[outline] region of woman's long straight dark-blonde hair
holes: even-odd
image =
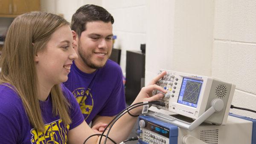
[[[69,25],[62,17],[45,12],[22,14],[15,18],[6,35],[0,57],[0,84],[14,86],[20,96],[29,121],[36,130],[44,132],[44,121],[38,100],[38,78],[35,55],[44,51],[53,32]],[[64,124],[70,124],[70,104],[59,84],[52,87],[52,113],[59,115]]]

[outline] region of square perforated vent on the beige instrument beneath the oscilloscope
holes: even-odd
[[[218,129],[201,130],[200,140],[207,144],[218,144]]]

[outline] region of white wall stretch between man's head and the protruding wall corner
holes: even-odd
[[[140,51],[146,42],[146,0],[102,0],[102,6],[114,17],[114,48],[122,50],[120,66],[125,73],[126,51]]]

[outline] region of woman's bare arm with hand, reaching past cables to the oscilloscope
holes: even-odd
[[[151,85],[143,87],[140,93],[137,95],[137,98],[134,100],[133,104],[143,102],[143,101],[157,101],[160,98],[163,98],[163,94],[152,95],[152,91],[157,89],[163,93],[166,93],[166,90],[161,86],[157,86],[157,81],[162,78],[166,72],[162,72],[156,78],[151,81]],[[130,112],[133,115],[138,115],[141,113],[143,106],[132,109]],[[134,127],[137,117],[133,117],[126,113],[113,125],[109,137],[112,138],[116,143],[124,141],[130,134],[132,128]],[[104,134],[106,134],[105,132]],[[87,125],[84,121],[79,126],[73,128],[68,132],[68,144],[83,144],[84,140],[90,135],[95,134],[93,130]],[[99,144],[100,137],[93,136],[86,141],[86,144]],[[103,144],[105,137],[102,138],[101,143]],[[107,141],[108,144],[113,144],[110,140]]]

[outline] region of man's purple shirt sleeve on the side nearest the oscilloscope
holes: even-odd
[[[98,113],[101,116],[114,116],[125,109],[125,92],[122,81],[122,70],[119,68],[119,75],[116,81],[116,88],[111,92],[105,106]]]

